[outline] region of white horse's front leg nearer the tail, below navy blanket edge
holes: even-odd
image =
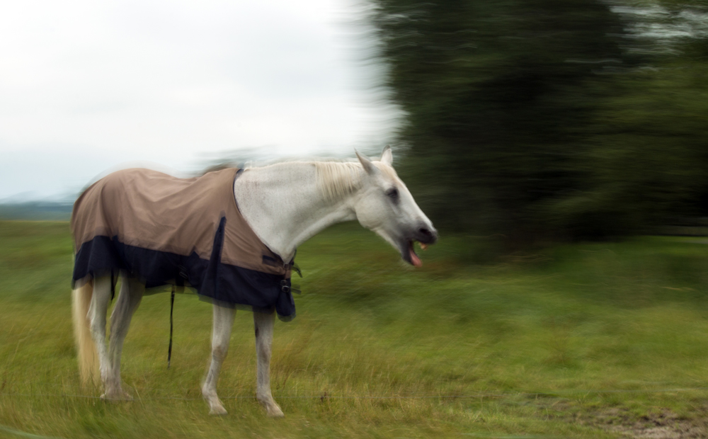
[[[207,379],[202,385],[202,396],[209,404],[210,415],[225,415],[226,409],[217,395],[217,381],[221,365],[229,352],[229,338],[234,324],[236,309],[214,305],[214,329],[212,330],[212,364],[207,372]]]

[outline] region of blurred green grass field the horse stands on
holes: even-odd
[[[297,318],[278,321],[253,398],[239,312],[219,391],[200,398],[210,305],[144,297],[123,351],[135,401],[81,389],[63,222],[0,222],[0,438],[699,438],[708,436],[708,239],[556,246],[486,265],[442,236],[412,270],[358,224],[303,245]]]

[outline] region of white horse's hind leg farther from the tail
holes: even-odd
[[[130,326],[132,314],[137,309],[145,291],[144,285],[135,278],[122,276],[118,300],[115,302],[113,314],[110,314],[110,342],[108,344],[108,358],[110,366],[108,377],[105,380],[105,394],[107,399],[132,399],[120,387],[120,353],[123,341]]]

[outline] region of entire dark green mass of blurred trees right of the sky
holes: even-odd
[[[703,71],[656,69],[675,52],[630,35],[631,16],[595,0],[372,3],[406,112],[399,173],[436,224],[519,246],[698,213]]]

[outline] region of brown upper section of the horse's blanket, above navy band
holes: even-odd
[[[236,206],[236,171],[224,169],[195,178],[176,178],[149,169],[111,173],[74,203],[75,251],[94,236],[118,236],[118,241],[130,246],[183,256],[194,251],[208,260],[219,221],[225,216],[222,263],[285,275],[290,270],[258,239]],[[263,256],[278,263],[265,264]]]

